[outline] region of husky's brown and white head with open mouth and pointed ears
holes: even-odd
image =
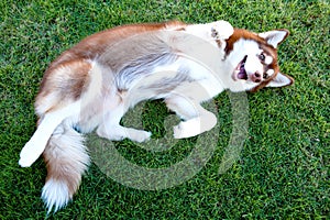
[[[282,74],[277,63],[277,46],[288,34],[287,30],[256,34],[235,29],[224,48],[232,70],[229,89],[256,91],[263,87],[292,85],[294,79]]]

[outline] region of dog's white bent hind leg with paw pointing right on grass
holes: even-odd
[[[123,139],[130,139],[135,142],[147,141],[151,136],[151,132],[125,128],[119,124],[127,110],[123,105],[120,105],[107,112],[103,122],[97,130],[97,134],[111,141],[121,141]]]

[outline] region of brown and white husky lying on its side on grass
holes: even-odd
[[[147,131],[120,125],[147,99],[163,99],[182,122],[174,138],[209,131],[217,123],[200,103],[221,91],[256,91],[294,82],[279,73],[277,46],[287,30],[252,33],[226,21],[133,24],[96,33],[64,52],[47,68],[35,100],[37,129],[20,154],[31,166],[47,164],[42,198],[48,212],[77,191],[89,156],[82,133],[147,141]]]

